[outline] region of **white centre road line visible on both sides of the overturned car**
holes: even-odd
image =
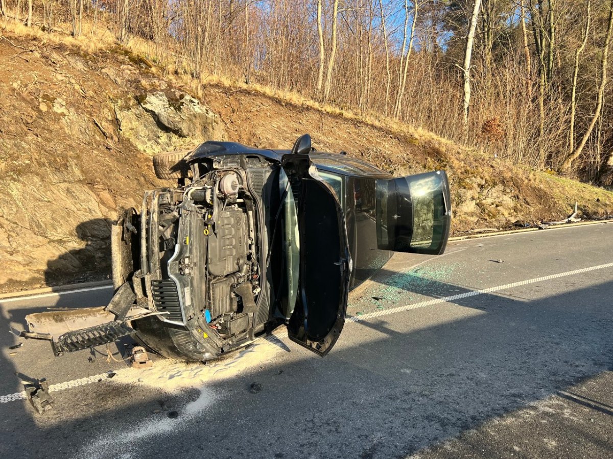
[[[521,280],[519,282],[512,282],[510,284],[498,285],[496,287],[489,287],[489,288],[484,288],[481,290],[468,291],[468,292],[460,293],[457,295],[446,296],[443,298],[435,298],[432,300],[422,301],[422,302],[414,303],[414,304],[408,304],[408,305],[400,306],[397,308],[371,312],[371,313],[367,313],[361,316],[348,316],[346,321],[348,323],[365,321],[367,319],[371,319],[375,317],[387,316],[390,314],[396,314],[399,312],[409,311],[411,309],[417,309],[417,308],[422,308],[426,306],[433,306],[435,304],[441,304],[441,303],[446,303],[446,302],[450,302],[454,300],[459,300],[462,298],[468,298],[471,296],[478,296],[478,295],[483,295],[486,293],[497,292],[500,290],[519,287],[522,285],[533,284],[536,282],[544,282],[546,280],[558,279],[561,277],[568,277],[568,276],[575,275],[575,274],[583,274],[585,272],[596,271],[598,269],[604,269],[608,267],[613,267],[613,263],[599,264],[598,266],[591,266],[591,267],[582,268],[582,269],[575,269],[574,271],[560,272],[558,274],[552,274],[552,275],[547,275],[543,277],[536,277],[536,278],[528,279],[528,280]],[[96,287],[96,288],[99,288],[99,287]],[[122,370],[119,370],[119,371],[122,371]],[[102,373],[101,375],[88,376],[88,378],[75,379],[74,381],[66,381],[66,383],[53,384],[49,386],[49,392],[56,391],[56,390],[70,389],[72,387],[85,386],[85,384],[96,383],[97,381],[100,381],[100,379],[104,381],[107,378],[107,376],[108,376],[107,373]],[[8,403],[9,401],[22,400],[24,398],[26,398],[25,392],[15,392],[15,394],[0,395],[0,403]]]

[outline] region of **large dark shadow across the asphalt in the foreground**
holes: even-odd
[[[413,288],[448,296],[459,287]],[[159,397],[137,385],[56,392],[47,420],[11,402],[0,405],[0,455],[74,457],[94,436],[100,457],[121,457],[128,446],[142,452],[133,457],[201,457],[211,448],[220,458],[405,457],[611,368],[612,293],[613,282],[531,301],[481,294],[454,301],[471,314],[428,308],[438,311],[434,325],[412,324],[411,312],[348,324],[354,331],[325,359],[292,346],[298,359],[207,386],[215,403],[191,420],[179,408],[172,435],[128,436],[154,419]],[[13,377],[10,362],[0,365]],[[261,392],[249,392],[253,381]],[[62,441],[48,441],[56,436]],[[606,439],[593,442],[613,453]]]

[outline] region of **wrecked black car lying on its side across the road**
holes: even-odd
[[[55,354],[132,335],[165,357],[203,361],[285,325],[326,355],[349,290],[393,251],[440,254],[451,201],[444,171],[394,178],[345,154],[208,141],[154,157],[175,187],[145,193],[112,233],[106,307],[29,315]]]

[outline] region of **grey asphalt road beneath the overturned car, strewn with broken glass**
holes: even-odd
[[[212,365],[139,371],[105,348],[9,349],[21,340],[4,333],[0,396],[28,379],[56,390],[44,415],[0,403],[0,457],[613,457],[611,255],[613,224],[396,254],[351,294],[323,359],[281,331]],[[109,296],[0,300],[0,328]]]

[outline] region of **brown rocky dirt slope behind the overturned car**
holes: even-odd
[[[444,168],[455,234],[517,220],[613,213],[613,193],[416,133],[382,129],[260,92],[210,85],[200,100],[145,59],[0,39],[0,290],[105,278],[109,225],[162,184],[150,157],[208,138],[364,157],[396,175]]]

